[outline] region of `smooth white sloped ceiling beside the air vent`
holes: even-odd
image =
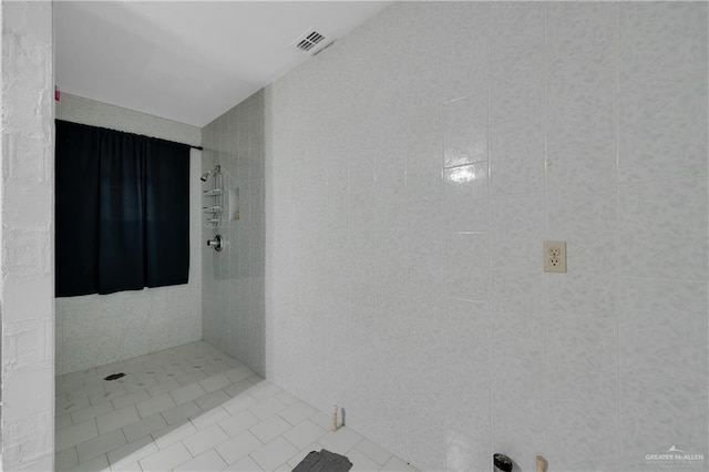
[[[337,39],[389,2],[58,1],[62,92],[204,126],[310,54],[309,28]]]

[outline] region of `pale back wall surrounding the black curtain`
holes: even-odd
[[[93,100],[62,94],[56,117],[201,144],[199,129]],[[202,339],[202,153],[193,150],[189,175],[189,283],[56,298],[56,373],[73,372]]]

